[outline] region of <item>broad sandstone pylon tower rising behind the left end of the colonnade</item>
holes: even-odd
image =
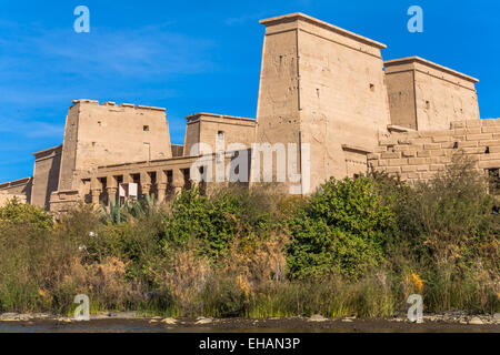
[[[73,101],[64,131],[59,190],[79,189],[100,165],[172,156],[164,109]]]

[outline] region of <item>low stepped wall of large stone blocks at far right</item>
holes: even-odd
[[[373,171],[410,183],[431,179],[463,153],[479,171],[500,168],[500,119],[458,121],[449,130],[392,133],[368,155]]]

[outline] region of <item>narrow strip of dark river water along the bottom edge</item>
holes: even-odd
[[[0,333],[500,333],[500,325],[462,325],[450,323],[394,323],[358,320],[352,323],[311,324],[297,320],[223,320],[199,326],[149,323],[144,320],[109,320],[62,323],[56,321],[0,322]]]

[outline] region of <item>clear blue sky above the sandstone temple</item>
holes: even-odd
[[[90,33],[73,10],[90,9]],[[407,30],[410,6],[423,33]],[[71,100],[167,108],[172,143],[184,116],[256,114],[263,27],[304,12],[481,82],[482,118],[500,116],[500,2],[496,0],[0,0],[0,182],[32,174],[32,153],[60,144]]]

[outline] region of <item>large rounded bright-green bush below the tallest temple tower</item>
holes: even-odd
[[[357,278],[383,260],[396,219],[373,180],[331,179],[288,221],[292,277],[340,273]]]

